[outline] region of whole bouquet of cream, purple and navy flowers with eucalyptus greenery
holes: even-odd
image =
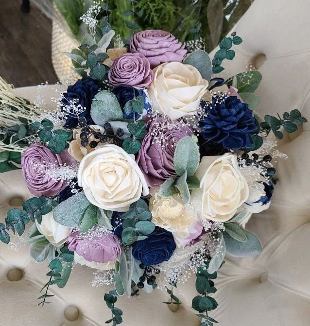
[[[89,32],[67,53],[81,79],[57,110],[26,102],[22,110],[20,99],[16,108],[2,94],[1,116],[11,119],[1,125],[0,170],[21,166],[34,197],[8,211],[0,240],[9,243],[10,231],[21,236],[32,223],[30,255],[49,266],[42,306],[49,287],[64,287],[82,264],[100,271],[97,283],[113,284],[104,295],[106,323],[118,325],[118,296],[166,288],[167,304],[179,305],[173,289],[194,273],[192,308],[201,326],[212,326],[213,279],[225,254],[262,249],[245,224],[268,209],[276,184],[277,152],[267,136],[280,139],[307,120],[296,109],[260,119],[256,70],[218,77],[242,42],[235,33],[212,60],[200,42],[136,31],[132,22],[125,45],[107,16],[97,19],[101,8],[108,12],[94,4],[82,17]]]

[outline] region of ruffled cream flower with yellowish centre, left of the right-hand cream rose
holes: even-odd
[[[192,233],[197,233],[196,223],[199,218],[195,207],[191,204],[184,205],[182,198],[175,194],[171,197],[162,197],[157,189],[150,190],[150,212],[152,213],[152,222],[167,231],[172,232],[176,244],[180,247]],[[202,227],[197,236],[201,234]],[[197,237],[196,236],[196,237]]]

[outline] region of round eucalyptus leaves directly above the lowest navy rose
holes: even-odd
[[[122,214],[120,219],[124,220],[121,239],[127,245],[146,239],[155,230],[155,224],[150,221],[152,214],[143,199],[131,204],[128,212]]]

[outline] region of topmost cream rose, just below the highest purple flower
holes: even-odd
[[[194,115],[208,86],[200,72],[180,62],[164,63],[153,71],[148,89],[153,110],[172,120]]]

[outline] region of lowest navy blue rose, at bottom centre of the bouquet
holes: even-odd
[[[156,227],[147,239],[135,243],[132,255],[143,265],[151,266],[168,261],[175,248],[172,233]]]

